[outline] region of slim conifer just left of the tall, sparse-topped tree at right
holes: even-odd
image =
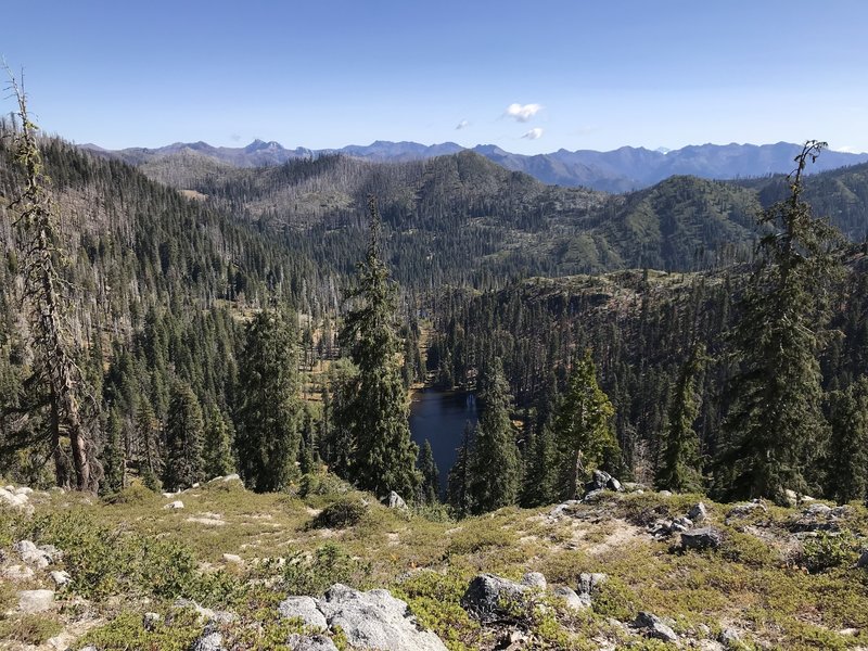
[[[704,353],[704,346],[693,347],[690,357],[681,365],[669,398],[669,417],[654,476],[654,485],[659,490],[702,490],[700,442],[693,423],[699,416],[700,396],[697,384],[705,363]]]

